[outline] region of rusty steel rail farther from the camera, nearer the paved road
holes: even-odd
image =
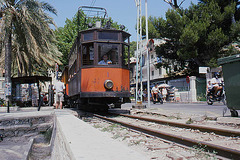
[[[180,128],[198,129],[202,132],[210,132],[210,133],[214,132],[215,134],[223,135],[223,136],[235,136],[235,137],[238,136],[238,137],[240,137],[239,131],[232,131],[232,130],[228,130],[228,129],[220,129],[220,128],[215,128],[215,127],[207,127],[207,126],[200,126],[200,125],[194,125],[194,124],[184,124],[184,123],[179,123],[179,122],[172,122],[172,121],[159,120],[159,119],[153,119],[153,118],[126,115],[126,114],[117,114],[117,115],[134,118],[134,119],[139,119],[139,120],[144,120],[144,121],[148,121],[148,122],[154,122],[154,123],[158,123],[158,124],[165,124],[165,125],[169,125],[169,126],[180,127]]]

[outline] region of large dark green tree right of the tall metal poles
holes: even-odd
[[[218,58],[230,54],[239,36],[237,5],[236,1],[205,0],[185,10],[168,10],[166,19],[150,17],[153,32],[158,33],[153,35],[166,41],[156,48],[166,62],[159,66],[189,74],[197,74],[199,66],[216,66]]]

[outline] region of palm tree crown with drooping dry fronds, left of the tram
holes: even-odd
[[[56,14],[56,10],[45,2],[0,0],[0,54],[2,62],[5,58],[7,83],[11,82],[13,62],[20,75],[31,75],[33,69],[43,65],[61,64],[61,53],[54,45],[55,37],[50,28],[54,22],[45,11]]]

